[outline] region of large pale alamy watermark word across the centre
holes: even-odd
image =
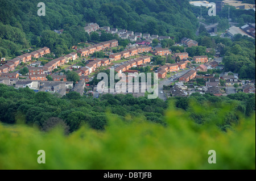
[[[152,77],[153,75],[153,77]],[[114,69],[110,69],[110,76],[106,73],[99,73],[97,79],[101,80],[97,85],[98,92],[105,93],[148,93],[148,99],[158,97],[158,74],[157,73],[124,73],[114,74]],[[140,81],[141,79],[141,81]],[[115,83],[115,80],[120,80]],[[153,82],[153,85],[152,85]]]

